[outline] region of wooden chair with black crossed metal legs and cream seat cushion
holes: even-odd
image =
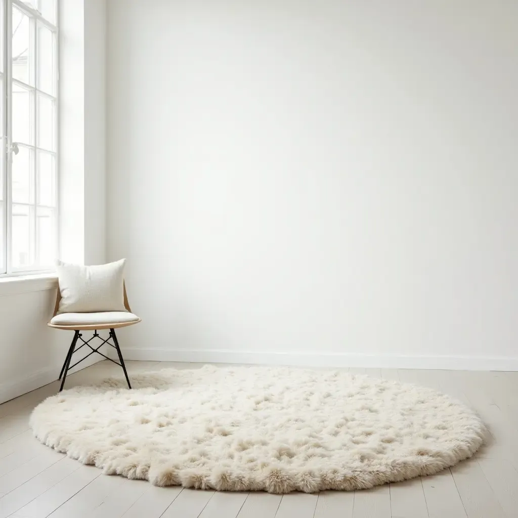
[[[60,392],[63,390],[63,385],[65,384],[65,379],[67,372],[75,367],[77,364],[81,363],[83,359],[88,358],[93,353],[100,354],[104,356],[106,359],[109,359],[110,362],[113,362],[120,367],[124,371],[124,376],[126,377],[126,381],[128,387],[131,389],[130,378],[128,378],[128,373],[126,371],[126,366],[124,365],[124,359],[122,357],[121,348],[119,347],[119,341],[117,340],[117,335],[115,334],[115,329],[119,327],[126,327],[128,325],[138,324],[140,322],[140,318],[137,315],[131,312],[130,304],[128,303],[128,298],[126,295],[126,285],[123,285],[124,290],[124,307],[126,311],[104,311],[98,313],[58,313],[58,309],[60,306],[61,300],[61,292],[59,286],[57,288],[57,297],[56,297],[56,305],[54,308],[54,314],[50,319],[50,322],[47,324],[49,327],[53,327],[54,329],[64,329],[75,331],[74,338],[72,339],[72,343],[70,344],[70,348],[68,349],[68,353],[65,358],[65,363],[61,368],[61,373],[59,379],[63,378],[61,381]],[[106,340],[103,340],[97,330],[101,329],[109,329],[110,334]],[[93,330],[94,334],[92,338],[89,340],[84,340],[81,335],[81,331],[91,331]],[[103,343],[100,344],[97,349],[94,349],[90,345],[90,341],[95,337],[98,337],[100,340],[103,340]],[[109,339],[113,339],[113,343],[109,342]],[[83,343],[76,349],[76,344],[78,340],[81,340]],[[108,358],[105,354],[99,352],[99,349],[107,343],[109,346],[113,347],[117,350],[117,354],[119,356],[120,363]],[[92,351],[88,353],[84,358],[80,359],[79,362],[76,362],[74,365],[70,366],[70,361],[72,359],[72,355],[79,351],[84,346],[88,346]]]

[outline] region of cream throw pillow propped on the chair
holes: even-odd
[[[124,264],[96,266],[56,262],[60,285],[60,313],[127,311],[124,307]]]

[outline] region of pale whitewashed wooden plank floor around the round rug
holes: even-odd
[[[127,362],[131,373],[200,364]],[[101,362],[70,375],[66,386],[120,369]],[[356,492],[218,493],[104,476],[40,444],[28,428],[57,382],[0,405],[0,518],[499,518],[518,517],[518,372],[349,369],[415,382],[463,400],[491,435],[476,457],[431,476]]]

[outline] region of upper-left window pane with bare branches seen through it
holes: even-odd
[[[34,85],[33,38],[31,20],[16,7],[12,7],[12,77]]]

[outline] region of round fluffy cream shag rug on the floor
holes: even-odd
[[[470,457],[484,425],[423,387],[297,368],[164,369],[51,396],[36,437],[108,474],[216,490],[353,490]]]

